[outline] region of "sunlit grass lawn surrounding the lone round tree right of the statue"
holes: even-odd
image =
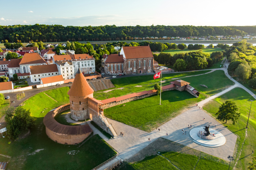
[[[252,150],[255,149],[255,141],[256,141],[256,103],[252,103],[250,119],[248,123],[247,136],[245,137],[245,127],[248,119],[248,114],[250,110],[251,102],[250,100],[255,100],[250,94],[248,94],[245,90],[241,88],[234,88],[227,92],[226,94],[215,98],[213,101],[204,105],[204,109],[211,113],[213,117],[215,117],[215,113],[218,111],[218,107],[224,103],[226,100],[234,101],[238,107],[241,116],[238,119],[236,125],[232,125],[231,121],[227,123],[224,122],[224,125],[227,128],[238,136],[237,138],[237,152],[233,155],[235,160],[232,162],[232,165],[237,161],[239,153],[241,151],[240,158],[238,160],[238,164],[236,169],[244,170],[248,166],[248,162],[252,161]],[[223,123],[223,122],[222,122]],[[244,141],[245,140],[245,141]],[[244,141],[244,145],[242,143]]]

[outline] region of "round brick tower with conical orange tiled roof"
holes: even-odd
[[[94,90],[85,80],[81,70],[78,69],[68,91],[72,119],[85,120],[90,118],[87,98],[93,98],[93,92]]]

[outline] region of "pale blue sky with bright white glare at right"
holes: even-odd
[[[3,26],[256,25],[256,0],[12,0],[13,5],[5,6],[6,2],[1,3]]]

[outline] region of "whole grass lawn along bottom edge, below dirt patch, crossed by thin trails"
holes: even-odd
[[[118,170],[155,170],[171,169],[180,170],[227,170],[227,162],[214,162],[204,157],[182,154],[178,152],[163,152],[159,155],[152,155],[134,164],[125,163]],[[170,162],[169,162],[170,161]],[[176,167],[174,167],[176,166]]]

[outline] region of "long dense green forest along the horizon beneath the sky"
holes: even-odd
[[[127,40],[131,37],[189,37],[214,35],[245,35],[256,33],[256,27],[211,27],[211,26],[61,26],[61,25],[13,25],[0,26],[0,41],[42,42]]]

